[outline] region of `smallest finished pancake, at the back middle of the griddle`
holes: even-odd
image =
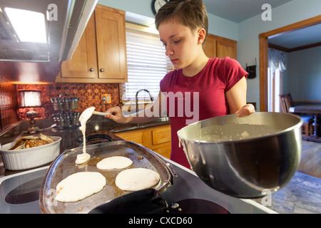
[[[100,162],[97,163],[97,167],[99,170],[113,170],[113,169],[124,169],[133,162],[127,157],[122,156],[113,156],[113,157],[106,157]]]

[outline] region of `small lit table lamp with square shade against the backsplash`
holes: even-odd
[[[38,133],[40,129],[34,126],[38,113],[34,110],[36,107],[41,107],[41,91],[36,90],[20,90],[19,91],[19,107],[20,108],[30,108],[26,112],[26,117],[29,118],[30,126],[26,133],[34,134]]]

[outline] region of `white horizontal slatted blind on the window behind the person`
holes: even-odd
[[[126,28],[126,49],[128,83],[121,83],[121,101],[136,100],[136,92],[140,89],[149,90],[156,99],[160,81],[173,69],[159,36]],[[150,100],[146,92],[139,93],[138,99]]]

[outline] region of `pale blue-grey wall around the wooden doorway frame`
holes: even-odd
[[[320,0],[293,0],[272,9],[272,21],[263,21],[261,14],[238,24],[238,61],[253,65],[257,59],[257,77],[248,79],[248,102],[256,102],[260,110],[260,80],[259,80],[259,34],[276,28],[294,24],[321,14]]]

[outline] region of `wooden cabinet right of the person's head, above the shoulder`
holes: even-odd
[[[203,44],[203,50],[209,58],[224,58],[229,56],[230,58],[236,59],[236,46],[237,41],[208,34]]]

